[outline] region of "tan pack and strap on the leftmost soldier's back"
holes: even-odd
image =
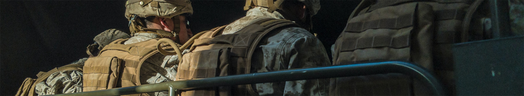
[[[53,68],[52,70],[49,70],[47,72],[40,71],[37,75],[37,79],[32,78],[26,78],[20,88],[18,88],[18,92],[16,92],[16,96],[32,96],[32,95],[38,95],[35,92],[35,86],[37,83],[40,83],[42,81],[46,81],[47,78],[56,72],[59,71],[65,71],[65,70],[78,70],[82,71],[82,66],[80,64],[69,64],[58,68]]]

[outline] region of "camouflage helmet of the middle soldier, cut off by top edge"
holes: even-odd
[[[250,8],[254,8],[255,6],[259,7],[266,7],[269,8],[267,11],[272,13],[273,11],[277,10],[278,7],[286,0],[246,0],[246,6],[244,6],[244,10],[248,10]],[[309,8],[309,13],[311,16],[315,15],[317,11],[320,9],[320,0],[288,0],[288,1],[299,1],[305,4],[306,7]]]

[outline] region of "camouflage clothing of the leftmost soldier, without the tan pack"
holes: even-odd
[[[102,50],[105,45],[112,41],[125,38],[129,38],[129,35],[116,29],[108,29],[96,35],[93,41],[95,41],[95,44],[99,45],[97,49]],[[87,59],[88,58],[81,58],[71,64],[84,65],[84,62]],[[35,92],[38,95],[82,92],[82,77],[82,71],[58,71],[51,74],[47,80],[37,83],[35,85]]]

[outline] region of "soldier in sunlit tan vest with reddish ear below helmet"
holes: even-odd
[[[189,0],[127,1],[125,16],[129,20],[132,37],[106,45],[98,57],[86,61],[83,90],[174,81],[178,56],[159,53],[157,42],[162,38],[175,41],[170,44],[172,47],[162,43],[158,46],[159,49],[169,50],[177,50],[177,43],[187,42],[192,33],[186,18],[192,13]],[[106,62],[107,59],[111,62]],[[167,92],[143,95],[167,95]]]

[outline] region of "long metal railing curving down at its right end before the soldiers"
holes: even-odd
[[[435,77],[433,77],[428,71],[424,70],[423,68],[417,65],[407,62],[377,62],[280,70],[270,71],[266,73],[232,75],[197,80],[170,81],[134,87],[55,95],[125,95],[168,90],[170,95],[174,95],[174,91],[176,91],[177,89],[209,88],[219,86],[246,85],[251,83],[365,76],[387,73],[400,73],[409,75],[413,78],[419,79],[425,85],[431,87],[431,91],[433,91],[435,95],[441,96],[445,94],[440,82],[438,82],[435,79]]]

